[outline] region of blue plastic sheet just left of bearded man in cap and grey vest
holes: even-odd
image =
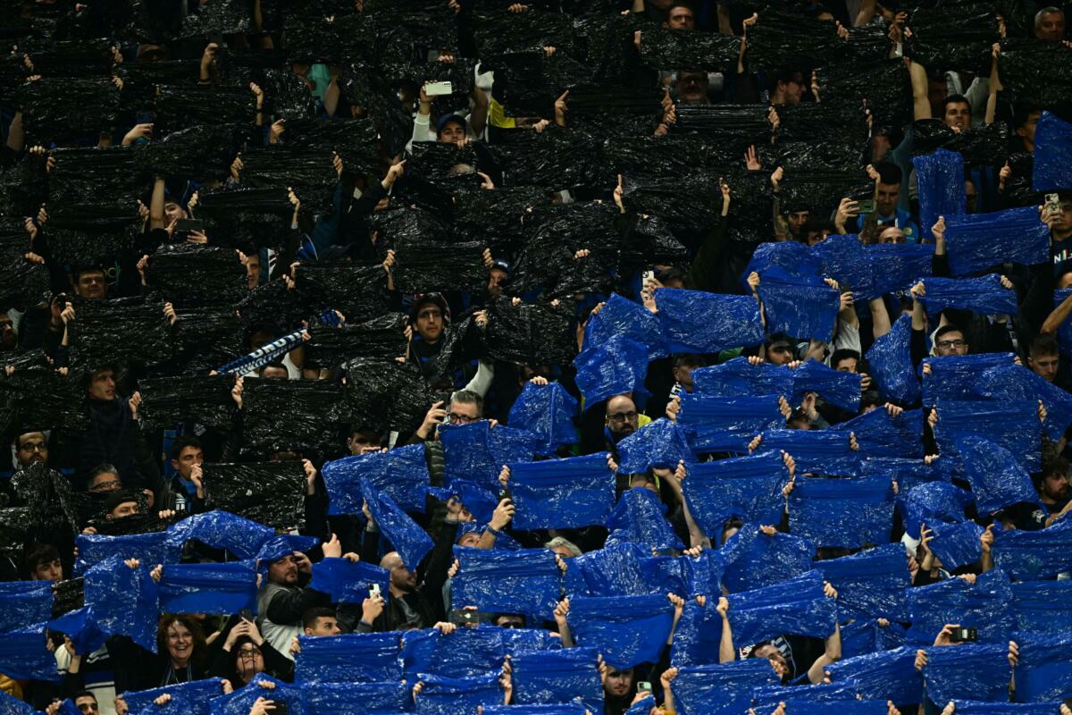
[[[168,564],[160,578],[160,610],[167,613],[228,615],[257,610],[253,562]]]

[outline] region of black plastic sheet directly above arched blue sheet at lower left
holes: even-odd
[[[273,528],[306,522],[306,472],[301,462],[205,464],[205,506]]]

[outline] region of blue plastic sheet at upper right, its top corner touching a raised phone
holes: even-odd
[[[1038,154],[1037,154],[1038,155]],[[953,275],[967,275],[1003,263],[1032,265],[1049,260],[1049,227],[1034,206],[994,213],[946,217],[946,250]],[[929,309],[930,281],[926,281]],[[936,309],[940,310],[940,309]],[[1008,313],[1006,310],[977,313]]]

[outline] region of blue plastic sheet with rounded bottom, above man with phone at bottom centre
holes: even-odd
[[[665,594],[578,597],[569,601],[569,628],[578,645],[624,669],[658,662],[670,638],[673,605]]]

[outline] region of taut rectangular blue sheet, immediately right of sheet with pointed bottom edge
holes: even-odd
[[[882,475],[799,479],[789,495],[789,531],[819,547],[885,543],[893,530],[893,491]]]

